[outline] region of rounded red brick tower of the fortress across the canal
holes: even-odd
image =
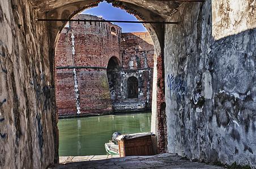
[[[99,20],[98,17],[91,15],[77,15],[74,19],[78,17]],[[116,29],[116,35],[111,34],[112,27]],[[77,111],[73,69],[59,69],[63,66],[76,66],[78,100],[82,113],[112,110],[106,69],[86,69],[78,66],[106,68],[110,57],[116,56],[120,59],[120,37],[121,28],[110,23],[72,22],[69,27],[62,30],[56,50],[59,115],[76,114]],[[72,55],[72,40],[74,40],[75,55]]]

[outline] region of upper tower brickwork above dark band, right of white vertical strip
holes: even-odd
[[[100,20],[91,15],[76,15],[74,19]],[[117,35],[111,34],[114,27]],[[116,56],[121,60],[119,42],[121,28],[110,23],[71,22],[70,28],[75,35],[75,65],[76,66],[108,66],[110,57]],[[71,36],[71,34],[70,34]],[[70,39],[71,42],[71,39]]]

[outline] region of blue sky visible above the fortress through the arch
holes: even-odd
[[[90,14],[95,16],[102,16],[105,20],[129,20],[138,21],[134,15],[128,14],[121,8],[113,7],[112,3],[106,1],[100,2],[99,6],[84,10],[82,14]],[[143,24],[130,24],[130,23],[113,23],[122,28],[122,32],[147,32]]]

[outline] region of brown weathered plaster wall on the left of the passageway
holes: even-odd
[[[44,17],[30,1],[0,1],[0,168],[54,162],[54,69]]]

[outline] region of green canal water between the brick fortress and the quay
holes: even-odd
[[[59,156],[103,155],[114,132],[150,132],[151,113],[59,119]]]

